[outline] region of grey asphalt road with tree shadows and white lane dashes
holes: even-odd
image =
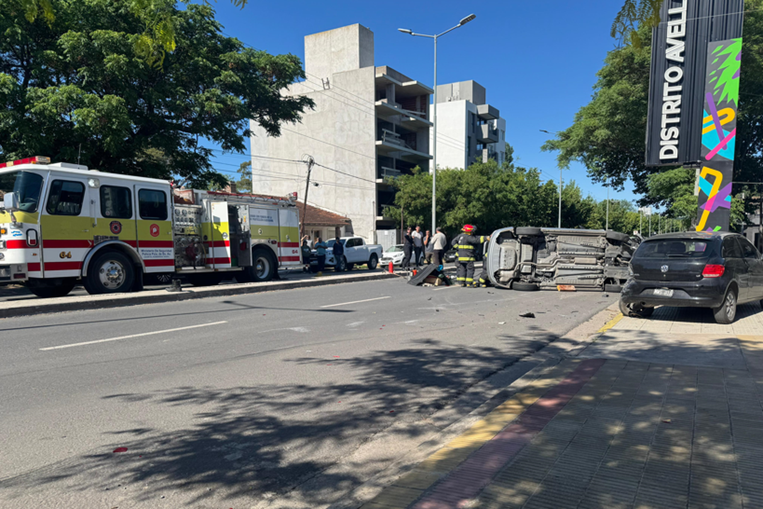
[[[7,318],[0,507],[319,507],[615,298],[391,279]]]

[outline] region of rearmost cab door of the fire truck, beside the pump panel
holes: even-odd
[[[175,250],[169,187],[137,184],[134,189],[137,249],[146,272],[172,272],[175,270]]]

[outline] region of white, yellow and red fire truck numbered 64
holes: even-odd
[[[300,266],[296,193],[285,198],[175,188],[171,182],[31,157],[0,164],[0,285],[60,297],[134,292],[143,280],[268,281]]]

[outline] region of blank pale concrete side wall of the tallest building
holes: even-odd
[[[301,124],[285,125],[281,137],[266,136],[252,122],[253,192],[285,195],[297,191],[303,197],[306,165],[256,156],[301,159],[309,154],[316,163],[352,176],[314,166],[311,180],[320,185],[311,185],[307,201],[350,217],[357,235],[374,240],[375,114],[370,106],[374,74],[372,66],[334,73],[328,90],[314,91],[315,85],[310,83],[291,85],[288,93],[304,93],[316,106],[304,114]]]

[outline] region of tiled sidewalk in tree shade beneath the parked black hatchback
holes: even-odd
[[[758,311],[713,331],[739,362],[568,359],[362,508],[763,507],[763,336],[742,333],[763,333]],[[684,316],[655,311],[608,334],[672,339],[714,325]],[[677,324],[699,330],[669,333]]]

